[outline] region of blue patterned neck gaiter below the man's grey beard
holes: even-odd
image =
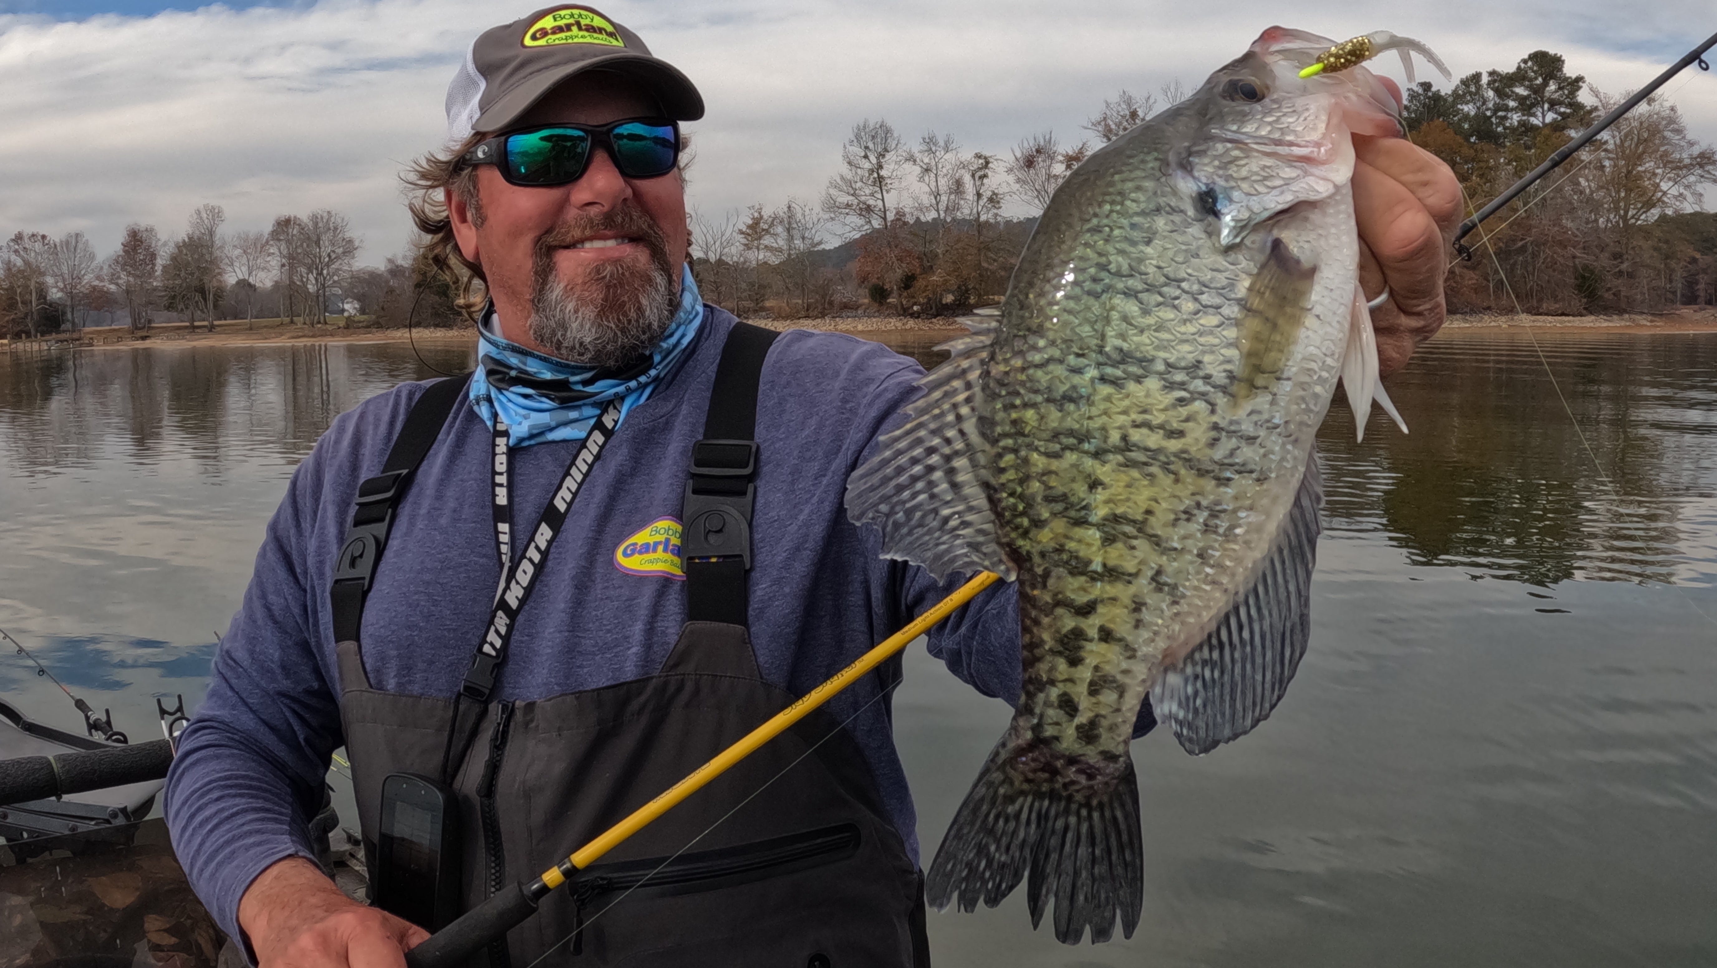
[[[680,280],[680,311],[668,323],[668,332],[647,361],[639,359],[637,366],[616,373],[543,356],[501,339],[491,308],[477,327],[482,378],[470,382],[470,406],[489,426],[500,413],[513,447],[584,440],[610,401],[622,401],[620,420],[625,421],[658,383],[673,377],[702,322],[704,301],[687,267]]]

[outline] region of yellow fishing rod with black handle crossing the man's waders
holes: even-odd
[[[876,669],[886,659],[907,648],[912,640],[931,631],[932,626],[951,616],[955,609],[970,602],[979,591],[989,588],[1001,576],[992,571],[977,573],[977,576],[908,622],[903,629],[883,640],[883,643],[871,652],[860,655],[852,665],[841,669],[829,681],[800,696],[793,701],[793,705],[774,714],[767,722],[747,732],[738,743],[716,753],[714,758],[692,770],[685,779],[663,791],[656,800],[639,806],[630,817],[615,824],[608,830],[603,830],[601,836],[573,851],[567,860],[544,870],[536,880],[531,880],[529,884],[524,880],[513,882],[512,887],[505,887],[491,894],[488,901],[460,915],[458,920],[433,934],[429,940],[405,953],[405,963],[410,968],[455,968],[457,965],[462,965],[465,958],[476,954],[481,947],[505,935],[515,925],[534,915],[543,898],[561,884],[567,884],[575,872],[591,867],[603,855],[620,846],[627,837],[651,825],[658,817],[673,810],[682,800],[702,789],[704,784],[725,774],[745,757],[755,753],[764,743],[785,732],[786,727],[793,726],[800,719],[805,719],[810,710],[829,701],[841,689],[862,679],[865,672]]]

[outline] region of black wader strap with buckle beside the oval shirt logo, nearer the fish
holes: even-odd
[[[704,438],[685,481],[685,610],[692,622],[747,624],[750,516],[757,493],[757,383],[774,330],[735,323],[709,392]]]

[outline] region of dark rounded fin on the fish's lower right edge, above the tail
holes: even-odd
[[[1317,454],[1276,543],[1216,628],[1150,689],[1150,708],[1188,753],[1238,739],[1269,719],[1312,633],[1312,566],[1324,504]]]

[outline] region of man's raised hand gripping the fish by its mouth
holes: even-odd
[[[1353,208],[1360,224],[1360,285],[1372,309],[1377,366],[1387,375],[1442,327],[1442,277],[1461,222],[1461,184],[1441,158],[1399,138],[1353,138]]]

